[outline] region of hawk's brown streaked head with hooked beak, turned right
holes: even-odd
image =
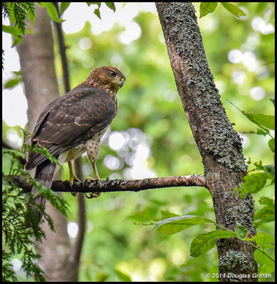
[[[115,67],[103,66],[90,72],[86,81],[92,87],[105,89],[115,94],[123,86],[125,76]]]

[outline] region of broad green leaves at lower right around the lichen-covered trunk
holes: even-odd
[[[271,136],[269,129],[275,129],[275,116],[268,116],[265,114],[248,114],[244,111],[241,111],[241,113],[244,114],[247,119],[254,122],[254,124],[256,124],[259,128],[258,131],[251,131],[250,133],[256,133],[258,135],[268,134],[269,136]],[[271,140],[270,142],[268,142],[268,146],[274,153],[275,148],[273,148],[273,145],[275,145],[275,139],[271,136]],[[250,159],[249,164],[251,164]],[[234,192],[239,192],[239,195],[241,197],[247,195],[249,192],[251,194],[254,194],[262,190],[263,187],[265,187],[267,181],[269,182],[269,185],[275,184],[274,164],[263,166],[260,160],[259,163],[254,163],[254,165],[256,166],[256,169],[254,170],[259,170],[261,172],[247,175],[244,178],[245,182],[242,187],[234,190]],[[261,197],[259,203],[264,204],[265,206],[263,206],[263,209],[256,212],[254,216],[254,225],[259,226],[262,223],[274,221],[274,200],[268,197]],[[197,224],[215,224],[216,226],[219,226],[218,224],[216,224],[216,222],[213,222],[210,219],[204,217],[193,215],[178,216],[177,214],[162,211],[162,220],[158,221],[155,224],[155,229],[160,231],[160,234],[162,236],[167,236],[169,234],[175,234]],[[202,256],[203,253],[207,253],[207,251],[216,246],[216,239],[237,237],[239,239],[247,241],[249,244],[256,248],[254,257],[260,265],[258,268],[259,273],[272,273],[275,270],[275,261],[273,259],[273,256],[268,255],[268,253],[264,251],[265,249],[273,249],[275,247],[275,239],[273,236],[264,232],[258,232],[256,236],[250,235],[251,238],[249,238],[247,236],[249,236],[250,233],[241,224],[237,224],[235,232],[230,231],[229,229],[226,229],[222,226],[219,227],[224,230],[210,231],[209,233],[198,234],[197,236],[195,236],[190,247],[191,256],[198,257]],[[254,245],[255,243],[257,244],[257,246]]]

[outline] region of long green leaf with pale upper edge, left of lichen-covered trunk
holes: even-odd
[[[170,217],[162,221],[159,221],[156,223],[154,229],[160,231],[160,234],[162,236],[167,236],[170,234],[178,233],[179,231],[187,229],[190,226],[199,225],[199,224],[216,224],[216,223],[204,217],[186,215],[186,216]]]

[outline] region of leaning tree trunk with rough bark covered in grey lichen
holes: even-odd
[[[188,2],[158,2],[164,39],[179,97],[202,155],[204,177],[214,202],[216,222],[234,231],[236,222],[255,234],[254,203],[232,192],[246,173],[241,138],[234,131],[204,52],[194,7]],[[219,273],[252,275],[257,272],[254,250],[236,238],[217,241]],[[229,281],[221,276],[221,281]],[[233,279],[234,280],[234,279]],[[254,278],[246,278],[253,281]]]

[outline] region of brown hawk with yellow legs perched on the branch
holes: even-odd
[[[32,146],[46,147],[60,164],[68,162],[70,182],[78,180],[71,160],[85,153],[93,165],[94,176],[99,180],[96,161],[98,160],[100,138],[117,114],[116,93],[125,82],[125,76],[115,67],[99,67],[62,97],[55,99],[38,117],[33,130]],[[29,151],[26,170],[36,168],[35,178],[46,187],[51,187],[56,173],[56,163],[45,155]],[[57,169],[58,170],[58,169]],[[88,177],[87,180],[92,180]],[[32,188],[32,195],[37,191]],[[90,194],[89,198],[100,193]],[[36,197],[37,204],[45,204],[42,196]],[[40,215],[36,212],[36,215]]]

